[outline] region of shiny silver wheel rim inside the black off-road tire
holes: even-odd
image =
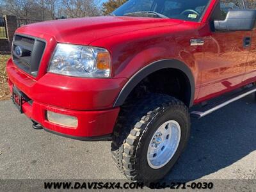
[[[147,160],[153,169],[162,168],[174,156],[180,143],[180,125],[175,120],[162,124],[154,133],[149,145]]]

